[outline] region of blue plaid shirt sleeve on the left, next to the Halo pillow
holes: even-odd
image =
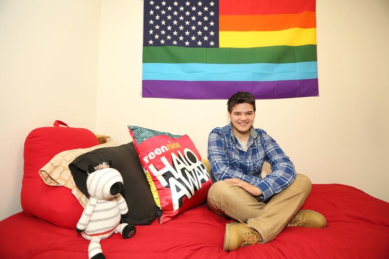
[[[218,181],[237,178],[255,185],[260,179],[242,173],[230,166],[229,159],[226,155],[224,136],[217,129],[212,130],[208,137],[208,160],[210,161],[212,174]]]

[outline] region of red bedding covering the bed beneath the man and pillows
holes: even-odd
[[[319,211],[326,228],[286,227],[272,242],[224,252],[228,222],[205,205],[170,222],[137,226],[134,237],[101,241],[117,258],[388,258],[389,203],[346,185],[314,184],[302,208]],[[88,258],[88,241],[23,212],[0,222],[0,258]]]

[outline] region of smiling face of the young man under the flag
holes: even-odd
[[[231,119],[232,130],[238,139],[248,137],[254,122],[255,112],[252,104],[236,104],[228,115]]]

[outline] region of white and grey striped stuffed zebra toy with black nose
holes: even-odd
[[[121,215],[128,212],[127,204],[120,192],[123,190],[123,177],[104,162],[97,167],[88,166],[87,188],[89,201],[77,223],[76,231],[86,240],[89,259],[104,259],[100,240],[113,233],[121,233],[126,238],[132,237],[136,228],[132,224],[120,224]],[[96,170],[96,171],[95,171]]]

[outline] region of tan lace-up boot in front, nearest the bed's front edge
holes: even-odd
[[[261,235],[243,222],[226,224],[224,233],[224,251],[236,250],[239,247],[252,245],[261,241]]]

